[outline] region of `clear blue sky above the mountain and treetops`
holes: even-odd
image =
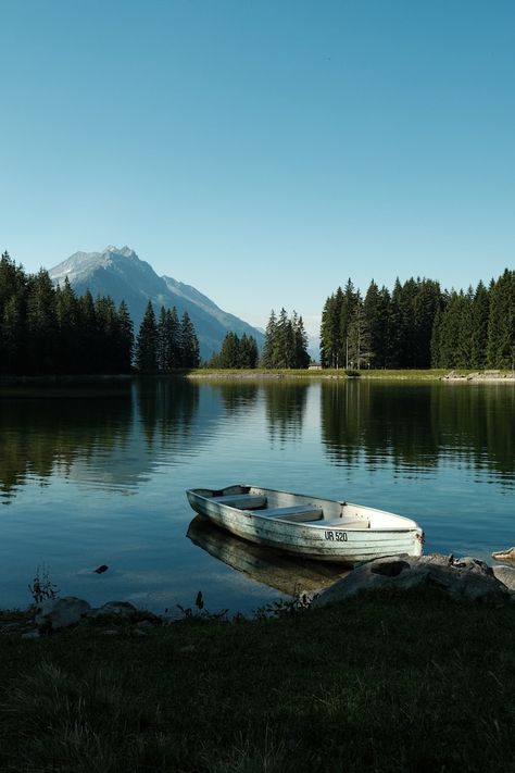
[[[265,324],[514,265],[513,0],[0,0],[0,249]]]

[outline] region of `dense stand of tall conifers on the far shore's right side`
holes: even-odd
[[[512,369],[515,271],[487,287],[442,290],[432,279],[373,280],[363,298],[351,282],[327,298],[321,325],[325,367]]]

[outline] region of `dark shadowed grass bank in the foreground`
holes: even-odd
[[[0,638],[0,769],[513,770],[515,611],[432,593]]]

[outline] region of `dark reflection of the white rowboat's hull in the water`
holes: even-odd
[[[274,548],[253,545],[218,528],[203,515],[194,516],[187,536],[210,556],[288,596],[328,587],[350,572],[349,566],[294,559]]]

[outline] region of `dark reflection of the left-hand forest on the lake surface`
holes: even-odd
[[[1,389],[1,500],[54,473],[87,478],[92,470],[97,482],[134,484],[155,450],[181,453],[198,408],[199,387],[186,379]]]

